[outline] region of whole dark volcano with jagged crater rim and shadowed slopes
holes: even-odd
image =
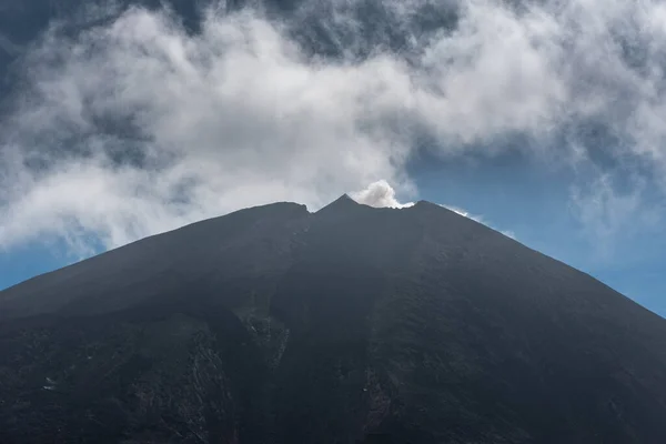
[[[666,321],[427,202],[242,210],[0,292],[0,442],[662,443]]]

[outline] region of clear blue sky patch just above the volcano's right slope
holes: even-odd
[[[440,165],[422,174],[420,190],[423,199],[481,215],[494,229],[513,232],[525,245],[666,315],[666,232],[650,228],[610,238],[591,234],[571,206],[567,179],[521,169],[513,161],[467,169]]]

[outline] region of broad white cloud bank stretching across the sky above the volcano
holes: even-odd
[[[52,29],[2,125],[0,245],[93,233],[117,246],[252,204],[315,209],[367,183],[355,199],[400,206],[389,183],[413,189],[405,165],[422,133],[447,155],[524,134],[538,142],[522,147],[531,154],[566,161],[588,158],[554,135],[598,121],[628,141],[602,148],[608,157],[664,168],[660,3],[466,0],[455,31],[422,36],[423,8],[453,3],[395,0],[386,29],[406,56],[359,57],[375,20],[354,16],[359,1],[305,2],[292,28],[210,12],[192,36],[131,9],[74,40]],[[311,58],[293,40],[311,22],[344,57]]]

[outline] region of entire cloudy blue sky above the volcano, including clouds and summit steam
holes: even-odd
[[[666,315],[663,2],[59,4],[0,8],[0,287],[349,192],[455,209]]]

